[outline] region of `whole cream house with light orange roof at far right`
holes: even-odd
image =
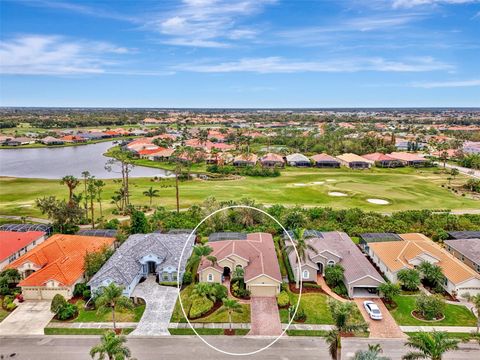
[[[423,261],[440,266],[450,294],[480,293],[480,275],[423,234],[399,234],[403,241],[370,243],[368,256],[391,282],[402,269],[414,269]]]

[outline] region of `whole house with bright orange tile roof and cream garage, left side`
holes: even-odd
[[[26,300],[53,299],[56,294],[70,299],[75,284],[85,281],[84,257],[89,252],[110,247],[114,238],[56,234],[8,265],[23,280]]]

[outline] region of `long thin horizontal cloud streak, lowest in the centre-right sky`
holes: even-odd
[[[282,57],[246,58],[217,64],[183,64],[176,70],[202,73],[298,73],[298,72],[424,72],[451,70],[452,65],[430,57],[408,59],[407,61],[387,60],[381,57],[357,59],[330,59],[326,61],[297,61]]]

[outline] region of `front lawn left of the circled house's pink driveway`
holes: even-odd
[[[193,290],[193,285],[187,286],[185,289],[182,290],[180,296],[182,297],[182,304],[185,312],[188,313],[188,309],[191,305],[191,293]],[[241,304],[242,305],[242,312],[241,313],[234,313],[232,315],[232,322],[235,323],[249,323],[250,322],[250,305],[248,304]],[[173,309],[172,318],[170,322],[174,323],[185,323],[187,320],[183,316],[182,308],[180,307],[180,300],[177,299],[175,303],[175,308]],[[204,322],[204,323],[226,323],[228,322],[228,315],[224,311],[220,311],[218,309],[213,314],[210,314],[207,317],[197,319],[197,320],[190,320],[190,322]]]

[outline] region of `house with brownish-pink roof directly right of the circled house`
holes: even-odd
[[[326,267],[340,264],[349,297],[377,296],[377,288],[385,280],[346,233],[321,232],[315,237],[307,237],[306,241],[315,251],[307,250],[307,259],[301,266],[294,251],[288,255],[297,283],[299,277],[302,281],[316,283],[319,276],[325,275]],[[290,240],[286,240],[285,245],[290,245]]]

